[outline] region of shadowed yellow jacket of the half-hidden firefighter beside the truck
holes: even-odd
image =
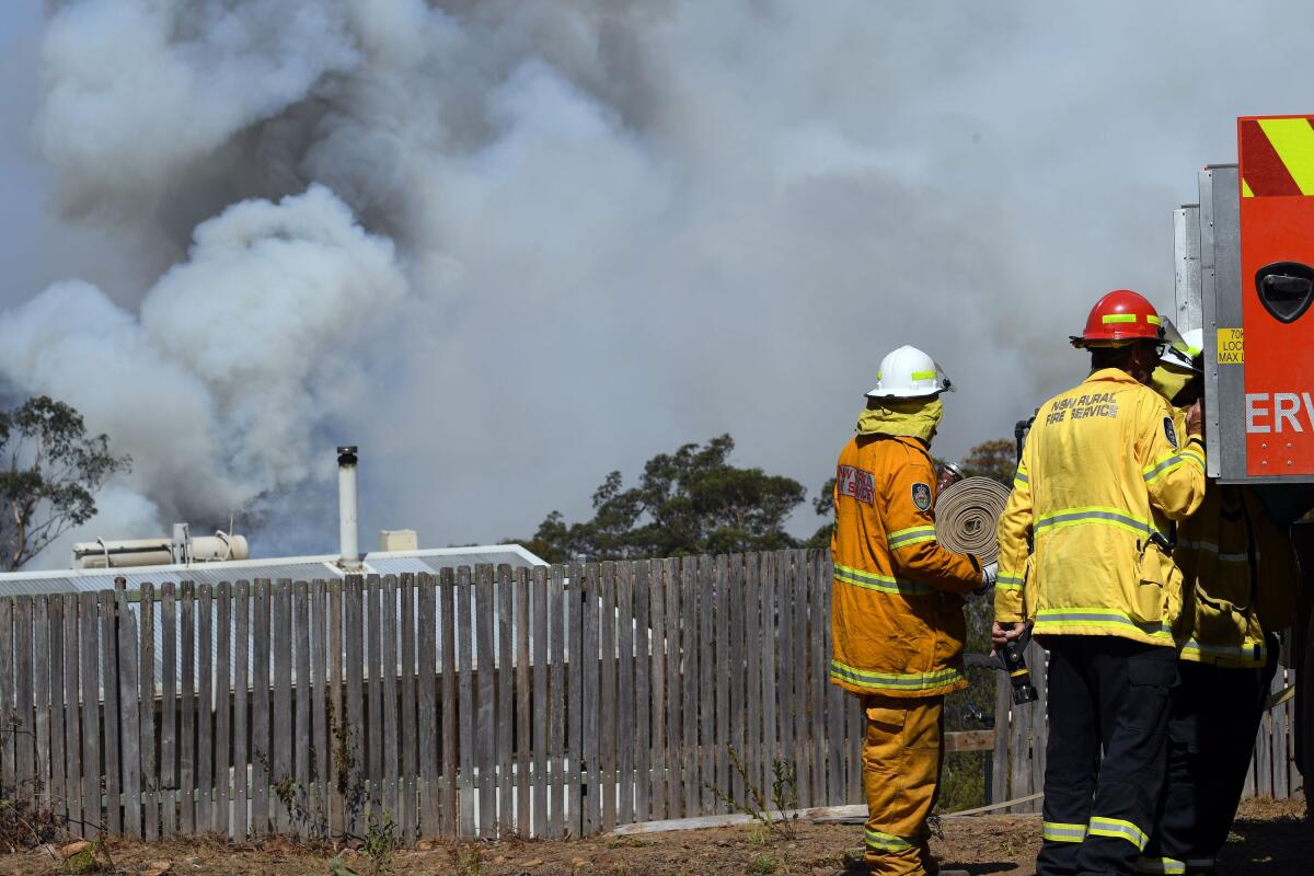
[[[1173,559],[1185,584],[1181,659],[1263,666],[1265,630],[1296,620],[1300,578],[1286,531],[1248,487],[1210,482],[1200,510],[1177,529]]]

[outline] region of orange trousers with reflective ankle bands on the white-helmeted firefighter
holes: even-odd
[[[878,876],[926,876],[926,817],[936,805],[943,762],[945,697],[866,696],[862,789],[867,797],[866,863]]]

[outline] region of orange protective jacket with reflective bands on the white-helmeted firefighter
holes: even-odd
[[[830,680],[855,693],[940,696],[967,687],[963,599],[972,557],[936,541],[936,471],[915,437],[857,435],[836,469]]]

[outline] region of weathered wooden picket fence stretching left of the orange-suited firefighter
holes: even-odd
[[[147,841],[587,835],[777,764],[857,802],[829,608],[804,550],[4,598],[0,787]]]

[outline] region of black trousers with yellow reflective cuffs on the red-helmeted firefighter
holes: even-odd
[[[1135,873],[1163,787],[1177,651],[1114,636],[1049,636],[1045,646],[1050,741],[1037,873]]]

